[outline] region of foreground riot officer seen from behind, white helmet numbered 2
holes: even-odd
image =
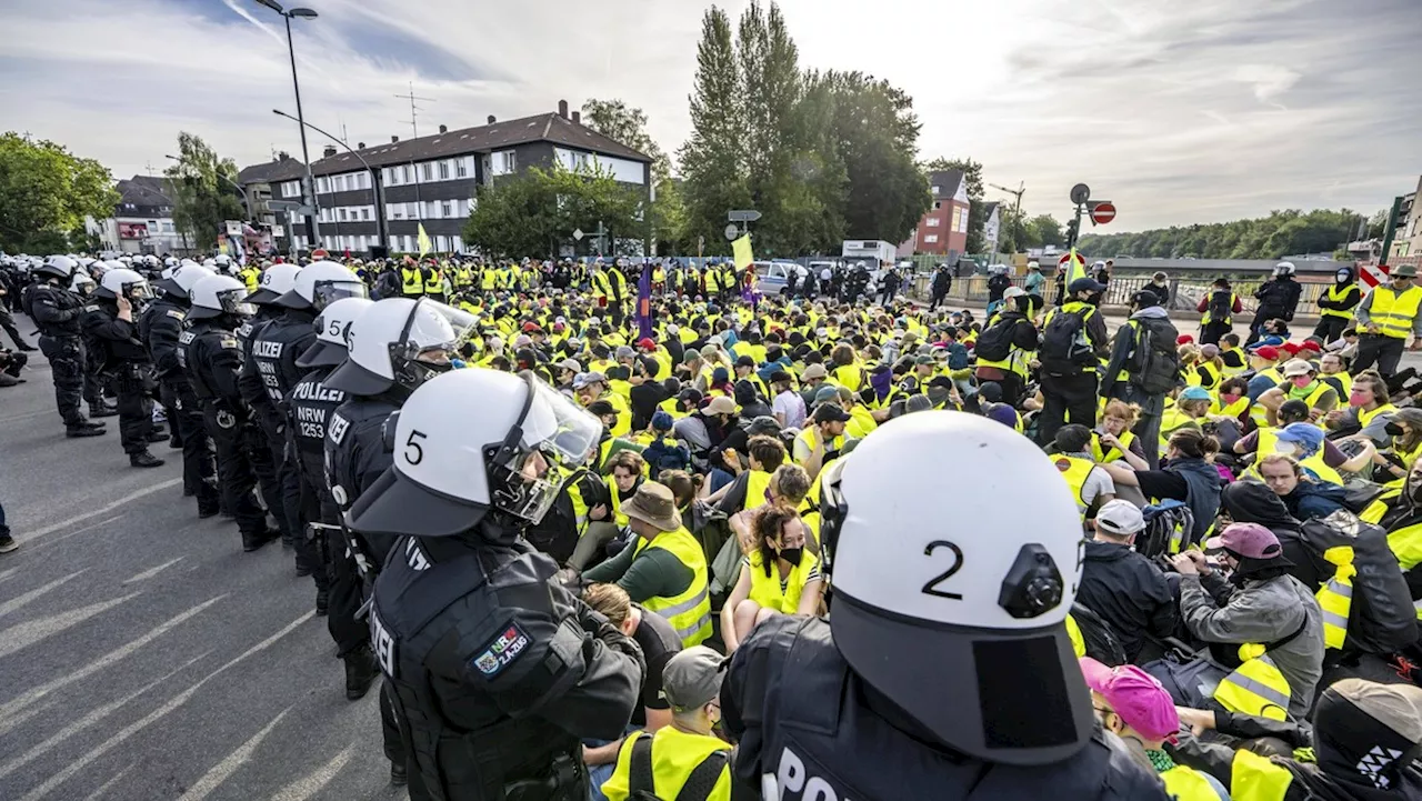
[[[948,479],[941,460],[985,470]],[[1011,502],[1024,491],[1037,502]],[[742,788],[1165,801],[1155,773],[1094,726],[1065,626],[1081,522],[1028,440],[957,411],[899,417],[829,468],[820,509],[829,620],[759,623],[721,689]],[[943,526],[943,509],[963,525]]]

